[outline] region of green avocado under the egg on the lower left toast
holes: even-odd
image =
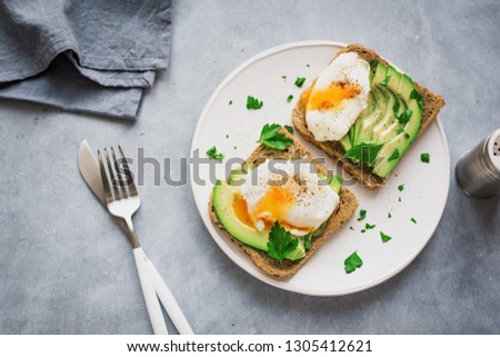
[[[240,178],[238,177],[238,175],[241,173],[233,171],[231,177],[234,176],[234,178]],[[332,176],[329,186],[333,191],[338,194],[342,186],[342,181],[343,180],[341,177]],[[242,222],[234,214],[233,202],[239,192],[240,190],[238,187],[231,186],[226,181],[218,180],[216,182],[216,186],[213,187],[213,210],[219,218],[219,221],[231,236],[248,246],[268,251],[269,231],[259,231],[256,228],[248,226],[247,224]],[[324,227],[320,227],[318,230],[320,230],[321,228],[324,229]],[[317,231],[314,231],[313,235]],[[306,256],[303,238],[296,238],[299,239],[299,245],[286,257],[287,259],[297,260]]]

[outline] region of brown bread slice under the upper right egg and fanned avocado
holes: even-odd
[[[337,52],[336,59],[341,53],[357,52],[359,57],[368,62],[377,60],[383,65],[389,65],[383,58],[377,54],[373,50],[363,47],[362,44],[350,44],[339,52]],[[332,60],[333,60],[332,59]],[[311,87],[314,86],[316,80]],[[427,129],[427,127],[436,119],[439,110],[444,106],[444,99],[441,96],[433,93],[431,90],[414,82],[418,91],[423,97],[424,106],[422,108],[422,122],[418,137]],[[354,165],[351,160],[343,157],[343,149],[337,141],[317,141],[311,131],[309,131],[306,122],[306,105],[308,101],[308,90],[303,91],[299,101],[292,111],[292,122],[297,131],[308,141],[312,142],[318,148],[322,149],[328,156],[339,161],[346,171],[352,175],[358,181],[369,189],[377,189],[384,185],[384,179],[371,171],[371,168],[363,165]]]

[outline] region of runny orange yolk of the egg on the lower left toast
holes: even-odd
[[[233,201],[234,215],[238,219],[250,227],[256,227],[258,220],[262,220],[266,227],[271,227],[274,221],[283,221],[288,210],[294,202],[291,191],[283,187],[270,186],[253,212],[249,212],[247,201],[238,195]]]

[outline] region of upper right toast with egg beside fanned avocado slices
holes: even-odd
[[[340,50],[292,112],[297,131],[376,189],[444,106],[361,44]]]

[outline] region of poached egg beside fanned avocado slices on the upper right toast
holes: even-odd
[[[356,52],[337,57],[310,89],[308,129],[318,141],[340,140],[368,107],[370,65]]]

